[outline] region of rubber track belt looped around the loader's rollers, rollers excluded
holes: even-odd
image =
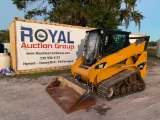
[[[120,94],[120,95],[117,95],[117,96],[113,95],[110,98],[108,98],[106,96],[108,88],[115,86],[116,84],[122,82],[123,80],[132,76],[133,74],[136,74],[139,78],[139,81],[143,84],[142,89],[140,89],[140,90],[138,89],[137,91],[132,90],[131,92],[127,92],[125,94]],[[97,94],[102,98],[105,98],[107,100],[112,100],[112,99],[115,99],[115,98],[119,98],[119,97],[123,97],[123,96],[129,95],[129,94],[132,94],[132,93],[141,92],[144,89],[145,89],[145,83],[144,83],[143,79],[141,78],[141,76],[137,72],[134,72],[134,71],[131,71],[131,70],[124,70],[124,71],[118,73],[117,75],[114,75],[113,77],[102,81],[97,88]]]

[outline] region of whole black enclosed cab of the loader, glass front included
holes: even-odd
[[[130,44],[129,32],[96,29],[86,33],[83,64],[88,66],[96,63],[98,59],[102,59]]]

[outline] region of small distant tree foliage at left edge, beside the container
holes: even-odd
[[[9,30],[0,30],[0,43],[9,42]]]

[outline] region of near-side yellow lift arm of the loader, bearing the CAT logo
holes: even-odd
[[[142,54],[144,52],[144,46],[145,46],[145,41],[136,45],[135,43],[130,44],[130,46],[123,48],[122,50],[117,51],[116,53],[113,53],[109,56],[106,56],[105,58],[101,59],[99,62],[97,62],[95,65],[92,66],[90,72],[89,72],[89,79],[90,82],[94,83],[96,76],[104,69],[109,68],[112,65],[116,65],[117,63],[126,60],[127,58],[130,58],[132,56]],[[127,51],[127,52],[126,52]],[[142,62],[146,62],[147,59],[147,54],[144,52],[144,56]],[[102,64],[105,64],[103,68],[100,69],[95,69],[98,68],[98,66],[101,66]],[[133,63],[133,64],[123,64],[122,67],[129,67],[129,66],[136,66],[138,65],[139,62]],[[137,67],[137,66],[136,66]]]

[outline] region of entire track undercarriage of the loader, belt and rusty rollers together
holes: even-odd
[[[107,100],[123,97],[145,89],[145,83],[141,76],[134,71],[124,70],[113,77],[102,81],[97,94]]]

